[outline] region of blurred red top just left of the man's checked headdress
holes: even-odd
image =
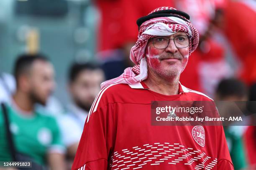
[[[136,20],[160,6],[174,6],[172,0],[96,0],[101,20],[98,35],[99,51],[120,48],[136,42]]]

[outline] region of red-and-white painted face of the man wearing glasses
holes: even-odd
[[[184,32],[177,32],[169,38],[187,36]],[[146,46],[146,60],[148,70],[164,77],[176,77],[185,69],[189,57],[189,46],[177,48],[174,40],[164,49],[154,47],[153,40],[148,40]]]

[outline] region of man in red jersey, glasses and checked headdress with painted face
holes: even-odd
[[[79,143],[73,170],[233,170],[222,126],[151,125],[151,101],[212,101],[179,83],[198,45],[189,15],[159,7],[137,20],[136,64],[102,83]]]

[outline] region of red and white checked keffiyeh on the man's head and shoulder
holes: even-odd
[[[153,10],[151,13],[160,10],[176,9],[172,7],[159,7]],[[184,18],[183,16],[180,17]],[[123,74],[119,77],[102,82],[101,89],[111,84],[135,84],[137,82],[146,80],[148,76],[148,68],[145,49],[148,39],[156,36],[169,36],[176,32],[185,32],[187,35],[192,37],[189,44],[190,55],[191,52],[197,48],[199,42],[198,32],[192,23],[177,17],[159,17],[145,21],[139,29],[138,40],[136,44],[131,48],[130,59],[136,65],[134,67],[126,68]]]

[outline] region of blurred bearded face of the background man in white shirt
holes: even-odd
[[[104,81],[102,70],[83,70],[74,82],[69,85],[72,98],[79,107],[89,111],[92,103],[100,91],[100,83]]]

